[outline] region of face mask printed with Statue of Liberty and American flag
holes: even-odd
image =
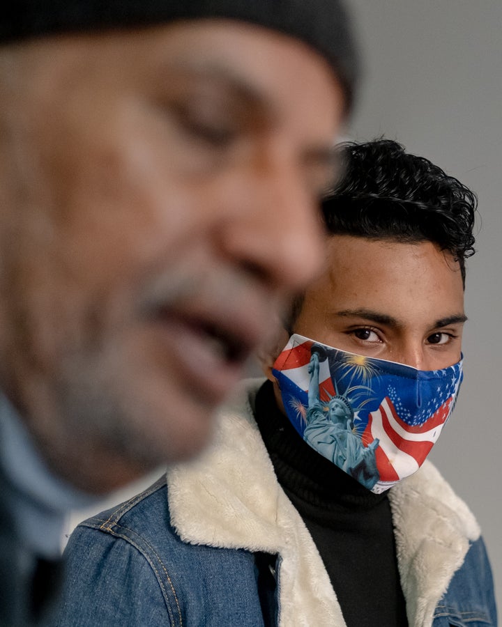
[[[462,360],[422,371],[295,334],[273,375],[305,442],[378,494],[423,464],[455,405]]]

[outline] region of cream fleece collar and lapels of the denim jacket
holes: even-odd
[[[192,544],[278,554],[280,626],[345,627],[324,564],[277,483],[252,414],[262,380],[220,413],[213,444],[167,472],[172,525]],[[436,603],[480,531],[430,463],[395,486],[390,504],[410,627],[432,624]]]

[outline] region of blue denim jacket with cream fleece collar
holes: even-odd
[[[252,414],[222,412],[199,460],[83,522],[66,550],[65,627],[344,627],[328,574]],[[390,493],[410,627],[496,626],[478,524],[430,463]]]

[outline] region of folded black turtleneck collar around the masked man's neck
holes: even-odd
[[[277,407],[271,381],[258,391],[255,417],[277,479],[287,493],[326,512],[372,509],[387,498],[387,493],[377,495],[361,486],[302,440]]]

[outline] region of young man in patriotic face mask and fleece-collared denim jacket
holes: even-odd
[[[424,461],[462,378],[476,198],[392,141],[342,154],[328,270],[271,380],[197,462],[77,527],[61,625],[496,624],[478,524]]]

